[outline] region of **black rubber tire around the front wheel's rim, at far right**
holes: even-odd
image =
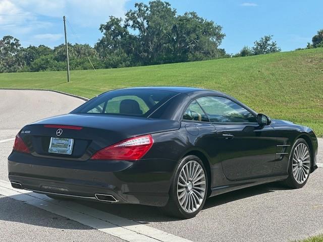
[[[297,182],[296,178],[293,175],[293,155],[294,155],[296,147],[299,144],[304,144],[307,147],[308,155],[309,155],[309,171],[308,171],[308,175],[307,175],[306,179],[301,184]],[[305,184],[307,183],[308,178],[309,178],[311,164],[312,164],[312,157],[311,157],[311,152],[310,152],[310,149],[308,147],[307,142],[302,138],[297,139],[295,144],[293,145],[293,148],[292,148],[292,151],[291,151],[290,160],[289,160],[289,167],[288,167],[288,178],[285,180],[285,185],[287,187],[289,187],[289,188],[292,188],[292,189],[298,189],[298,188],[304,187]]]

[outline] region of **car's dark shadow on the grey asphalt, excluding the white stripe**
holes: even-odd
[[[278,190],[287,189],[281,186],[279,183],[272,183],[218,195],[207,199],[203,210],[217,207],[226,203],[231,203],[237,200],[258,196],[261,194],[272,193]],[[26,207],[28,205],[20,201],[12,200],[11,198],[14,199],[14,196],[0,198],[0,220],[60,229],[92,229],[68,218],[64,218],[52,213],[48,214],[46,211],[40,210],[36,207],[28,209],[28,207]],[[92,209],[97,209],[102,212],[114,214],[129,220],[140,222],[142,224],[149,224],[150,222],[169,222],[181,220],[165,215],[163,211],[161,211],[161,209],[157,207],[133,204],[107,204],[86,201],[74,202],[85,205]],[[126,221],[126,223],[128,222]],[[123,226],[126,225],[132,225],[131,221],[129,221],[129,224],[124,224]]]

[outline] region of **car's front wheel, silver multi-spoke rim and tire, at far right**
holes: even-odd
[[[311,167],[311,153],[304,139],[296,140],[289,162],[289,176],[286,185],[302,188],[307,183]]]

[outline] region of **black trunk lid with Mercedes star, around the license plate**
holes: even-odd
[[[34,156],[87,160],[97,150],[122,140],[179,128],[180,123],[175,120],[110,114],[65,114],[25,126],[20,136]],[[48,152],[52,137],[73,139],[72,153]]]

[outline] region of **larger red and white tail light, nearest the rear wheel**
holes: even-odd
[[[139,160],[151,148],[151,135],[143,135],[121,141],[96,152],[92,160]]]

